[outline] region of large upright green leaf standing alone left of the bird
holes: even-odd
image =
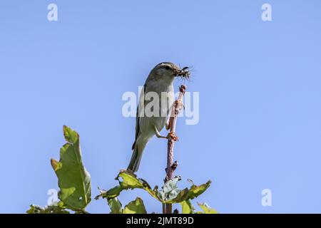
[[[51,159],[51,166],[58,177],[59,199],[73,210],[82,211],[91,202],[91,176],[83,166],[79,135],[63,126],[66,144],[61,147],[59,162]]]

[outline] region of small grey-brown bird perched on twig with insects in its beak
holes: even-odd
[[[189,75],[188,67],[180,69],[180,67],[176,66],[174,63],[169,62],[159,63],[153,68],[151,73],[149,73],[139,98],[136,113],[135,142],[133,142],[132,146],[133,155],[131,156],[131,162],[129,162],[127,170],[133,172],[138,171],[141,157],[143,156],[143,150],[146,147],[148,140],[150,140],[153,135],[156,135],[157,138],[178,140],[173,132],[168,133],[167,136],[162,136],[160,132],[164,126],[166,130],[170,129],[168,117],[174,103],[174,78],[177,76],[188,78]],[[158,95],[159,99],[148,99],[148,94]],[[148,111],[148,104],[157,101],[156,107],[151,108],[151,113],[153,113],[153,115],[148,115],[148,113],[146,113]],[[156,109],[154,110],[154,108]]]

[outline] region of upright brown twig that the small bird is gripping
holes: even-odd
[[[178,99],[175,100],[175,103],[173,105],[172,113],[170,113],[170,132],[175,133],[176,130],[176,122],[178,118],[178,113],[180,113],[180,110],[183,106],[183,96],[185,94],[186,87],[184,85],[180,86],[180,93],[178,95]],[[166,167],[166,177],[164,182],[168,182],[168,180],[173,180],[174,177],[174,171],[176,167],[178,166],[178,162],[174,160],[174,143],[175,141],[173,139],[168,140],[167,144],[167,167]],[[172,214],[172,204],[165,204],[163,205],[163,214]]]

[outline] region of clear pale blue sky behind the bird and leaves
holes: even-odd
[[[47,20],[50,3],[58,21]],[[261,19],[265,3],[272,21]],[[317,0],[1,1],[0,212],[44,206],[58,189],[49,160],[63,125],[81,135],[92,195],[116,185],[135,133],[121,97],[172,61],[193,66],[188,91],[200,94],[199,123],[179,118],[175,145],[180,187],[213,181],[194,202],[221,213],[320,213],[320,9]],[[138,176],[161,185],[165,154],[166,141],[153,138]],[[264,189],[272,207],[261,204]],[[139,190],[121,202],[136,195],[161,212]],[[87,209],[109,212],[104,200]]]

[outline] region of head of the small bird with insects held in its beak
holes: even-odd
[[[163,62],[156,65],[150,75],[155,80],[173,81],[175,77],[188,79],[190,77],[190,71],[188,67],[180,68],[174,63]]]

